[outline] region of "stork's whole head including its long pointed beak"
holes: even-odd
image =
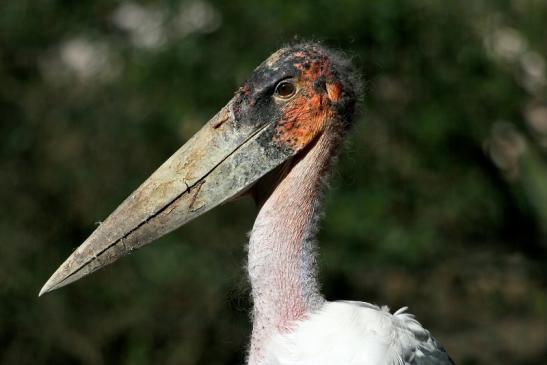
[[[40,295],[76,281],[242,195],[321,134],[351,125],[359,82],[349,60],[317,43],[286,47],[72,253]]]

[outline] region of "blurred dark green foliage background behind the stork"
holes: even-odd
[[[251,201],[36,295],[258,63],[312,39],[366,81],[326,296],[408,305],[459,364],[547,364],[546,24],[544,0],[2,1],[0,363],[243,363]]]

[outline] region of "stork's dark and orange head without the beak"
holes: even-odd
[[[356,88],[351,65],[317,44],[282,48],[237,92],[233,112],[246,123],[275,123],[270,142],[300,151],[329,126],[352,121]]]

